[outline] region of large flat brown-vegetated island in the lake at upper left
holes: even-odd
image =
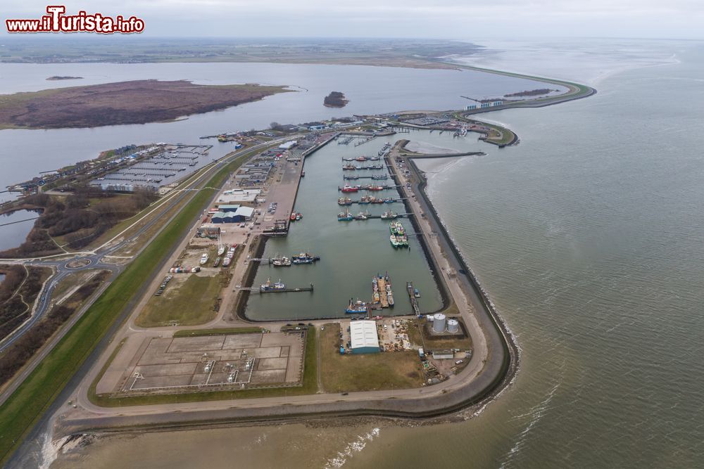
[[[135,80],[3,96],[0,129],[65,129],[165,122],[291,91],[258,84]]]

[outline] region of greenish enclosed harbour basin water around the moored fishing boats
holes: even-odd
[[[448,139],[450,138],[448,136]],[[382,139],[370,141],[367,143],[368,148],[365,147],[365,154],[375,155],[382,149],[382,153],[385,153],[389,148],[384,148],[385,143]],[[368,316],[370,311],[377,309],[383,309],[384,314],[391,315],[415,314],[413,305],[406,300],[406,295],[394,297],[391,290],[389,302],[385,283],[386,272],[391,279],[397,278],[402,282],[413,280],[425,293],[425,311],[436,311],[441,307],[439,290],[417,237],[407,236],[410,249],[394,249],[389,245],[389,221],[402,218],[408,220],[409,216],[408,210],[403,210],[400,206],[398,210],[396,207],[389,210],[394,204],[404,202],[398,195],[398,186],[380,186],[380,191],[388,194],[382,198],[372,195],[375,191],[362,188],[362,185],[348,184],[345,185],[347,188],[344,192],[358,193],[354,200],[346,193],[341,197],[338,195],[337,200],[332,195],[341,192],[342,186],[338,185],[338,181],[347,173],[341,169],[339,161],[343,158],[356,160],[359,157],[359,150],[355,150],[352,145],[327,145],[306,157],[306,178],[301,179],[295,204],[296,212],[306,216],[291,224],[286,237],[269,238],[263,255],[257,259],[249,259],[249,262],[260,264],[253,280],[257,289],[258,285],[265,283],[268,278],[273,281],[280,277],[287,288],[289,283],[313,283],[315,292],[311,295],[252,295],[245,309],[249,319],[262,321]],[[386,166],[382,165],[382,169],[370,170],[370,176],[372,174],[388,176],[389,172]],[[327,198],[325,193],[329,194]],[[363,205],[364,208],[350,210],[351,205]],[[377,210],[374,207],[378,207]],[[379,220],[382,222],[379,223]],[[413,230],[410,229],[409,223],[404,222],[404,225],[407,234],[414,234],[411,233]],[[320,256],[322,261],[294,265],[293,256],[288,257],[289,254],[286,253],[298,253],[301,248],[308,246],[315,247],[315,255]],[[288,257],[291,266],[275,266],[273,261],[269,260],[280,259],[282,255]],[[375,302],[373,294],[370,295],[368,283],[368,279],[375,276],[375,272],[384,274],[379,302]],[[413,272],[413,278],[408,278],[409,272]],[[342,295],[346,296],[341,296],[341,285],[344,285]],[[358,300],[361,303],[358,304]],[[391,307],[391,303],[394,307]]]

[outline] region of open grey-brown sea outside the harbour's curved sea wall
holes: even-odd
[[[378,435],[365,425],[140,435],[130,439],[128,452],[140,455],[130,466],[192,461],[199,442],[198,464],[218,468],[699,467],[704,46],[627,46],[626,58],[608,41],[518,44],[525,54],[506,51],[511,63],[501,51],[486,56],[485,65],[544,75],[560,62],[562,77],[598,82],[599,93],[487,116],[517,131],[515,148],[421,163],[522,348],[501,397],[463,423],[380,422]],[[668,65],[622,70],[672,53]],[[257,444],[240,442],[247,432]],[[154,450],[173,438],[177,449]],[[57,467],[123,467],[118,449],[127,447],[107,439]]]

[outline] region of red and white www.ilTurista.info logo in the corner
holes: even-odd
[[[77,15],[65,15],[63,5],[46,7],[48,15],[34,20],[5,20],[7,32],[99,32],[101,34],[130,34],[144,31],[144,20],[136,16],[104,16],[79,11]]]

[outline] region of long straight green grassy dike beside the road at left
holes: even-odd
[[[203,186],[222,186],[228,174],[237,169],[249,155],[251,152],[244,153],[222,167]],[[68,380],[87,359],[108,328],[118,319],[132,297],[153,276],[157,266],[212,197],[212,191],[196,193],[0,406],[0,463],[7,461],[34,424],[39,421],[42,413],[49,409]]]

